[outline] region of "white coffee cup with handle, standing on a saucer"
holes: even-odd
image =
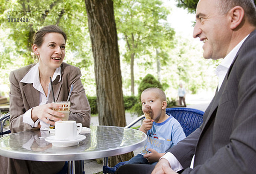
[[[58,140],[73,140],[82,131],[82,124],[76,121],[55,122],[55,137]]]

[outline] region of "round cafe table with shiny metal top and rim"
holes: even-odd
[[[74,161],[125,154],[143,147],[147,141],[145,133],[131,128],[91,126],[90,129],[90,133],[82,134],[86,138],[79,145],[71,147],[54,147],[39,138],[54,136],[49,131],[9,134],[0,138],[0,155],[32,161],[69,161],[68,172],[74,174]]]

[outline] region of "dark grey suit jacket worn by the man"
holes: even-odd
[[[170,152],[183,174],[256,173],[256,30],[237,52],[201,127]]]

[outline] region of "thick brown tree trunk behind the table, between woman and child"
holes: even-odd
[[[99,125],[126,125],[122,76],[112,0],[85,0],[92,43]],[[128,160],[133,152],[110,157],[109,166]]]

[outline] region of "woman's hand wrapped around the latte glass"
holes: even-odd
[[[55,125],[55,122],[62,120],[61,118],[64,117],[64,114],[52,110],[52,108],[61,108],[61,105],[55,103],[48,103],[34,107],[31,111],[32,120],[35,122],[37,119],[41,119],[45,123]]]

